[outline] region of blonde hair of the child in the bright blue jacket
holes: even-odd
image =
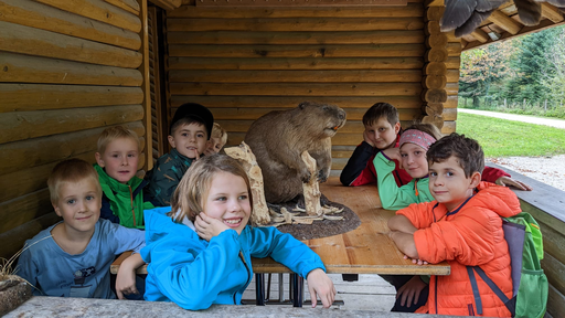
[[[253,215],[252,187],[245,169],[232,157],[217,153],[200,158],[182,177],[171,198],[172,209],[169,215],[175,222],[182,222],[184,218],[194,222],[196,215],[203,211],[202,203],[207,198],[212,179],[217,172],[228,172],[245,180]]]

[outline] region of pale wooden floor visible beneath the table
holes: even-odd
[[[329,274],[338,290],[335,300],[343,300],[343,305],[334,305],[334,308],[348,310],[390,311],[394,305],[396,292],[394,287],[381,276],[375,274],[360,274],[356,282],[344,282],[341,274]],[[284,274],[285,299],[288,300],[289,274]],[[265,282],[267,275],[265,275]],[[255,301],[255,277],[243,294],[243,299]],[[270,299],[278,300],[278,274],[273,274],[270,286]],[[309,300],[308,285],[305,280],[305,297]],[[276,305],[267,305],[276,306]],[[292,306],[280,305],[280,306]],[[310,305],[305,305],[310,306]]]

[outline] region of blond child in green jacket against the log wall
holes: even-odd
[[[121,126],[104,129],[94,166],[104,193],[100,218],[129,229],[143,229],[143,210],[154,205],[143,198],[147,181],[136,177],[139,138]]]

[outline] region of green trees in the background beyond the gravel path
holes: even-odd
[[[545,100],[558,106],[565,104],[564,87],[563,25],[461,54],[459,97],[472,98],[473,108],[521,103],[521,110],[511,112],[527,113],[529,107]],[[563,112],[555,108],[548,107],[546,113],[559,116]]]

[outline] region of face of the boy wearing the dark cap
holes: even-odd
[[[174,130],[172,136],[169,136],[169,144],[186,158],[194,159],[200,157],[206,149],[206,127],[198,123],[181,125]]]

